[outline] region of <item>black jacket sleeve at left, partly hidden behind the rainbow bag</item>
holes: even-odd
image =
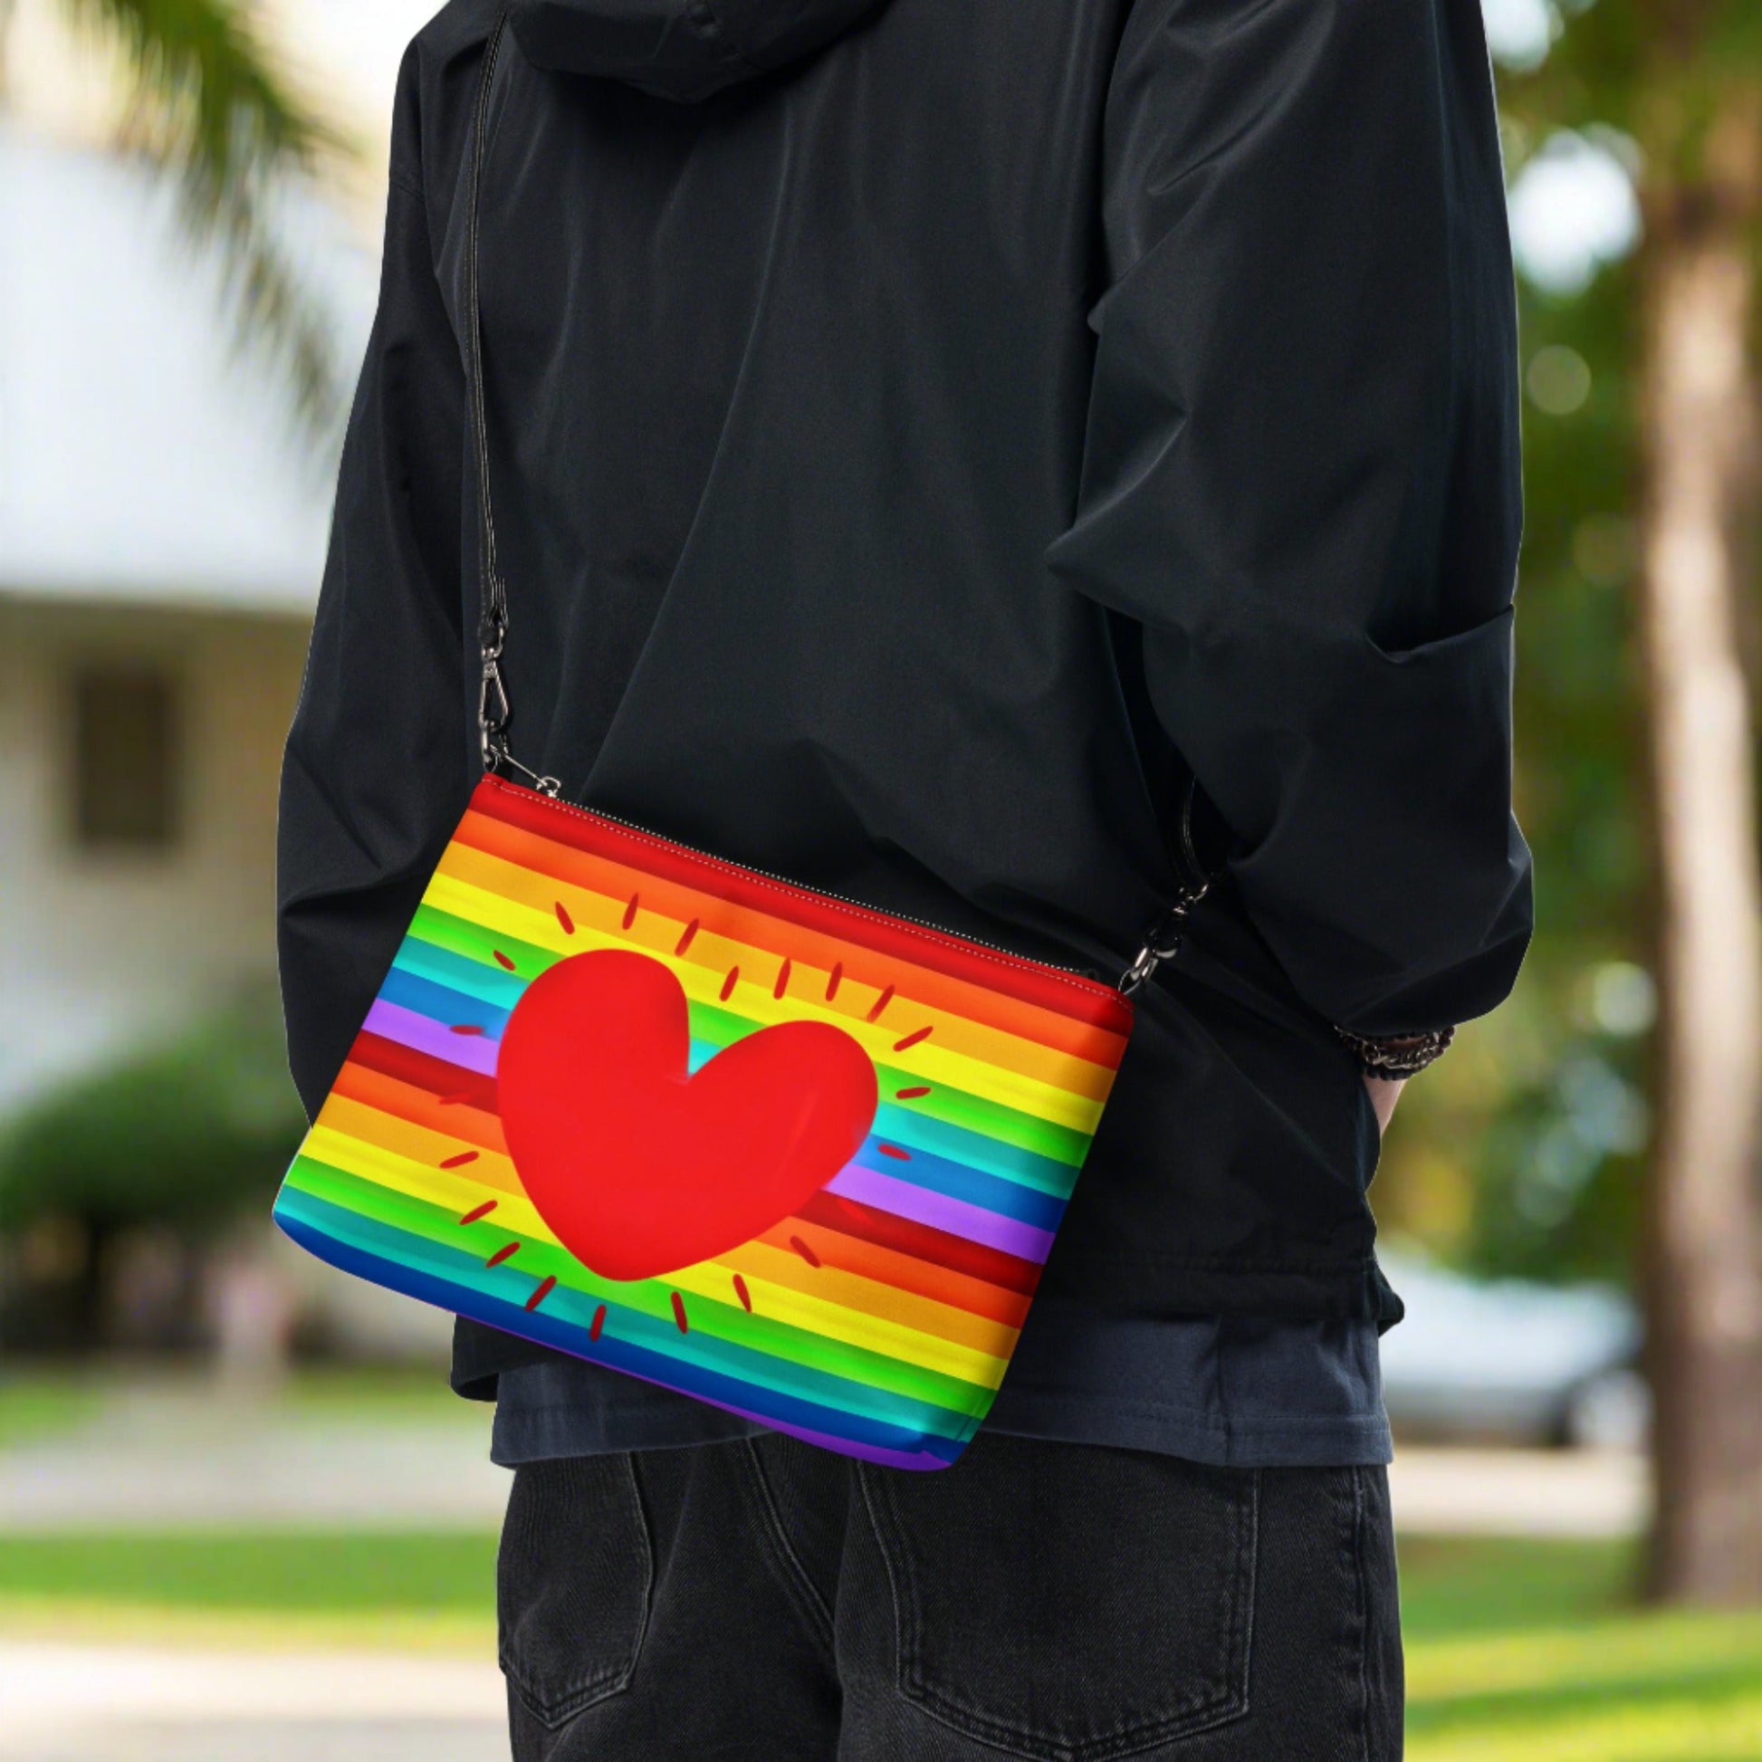
[[[282,766],[282,1006],[308,1115],[474,782],[460,580],[463,379],[419,194],[412,60],[393,123],[379,310]]]

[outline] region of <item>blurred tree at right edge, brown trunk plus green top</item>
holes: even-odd
[[[1561,0],[1505,107],[1639,148],[1633,479],[1653,853],[1644,1272],[1651,1591],[1762,1602],[1762,860],[1751,668],[1762,490],[1762,9]]]

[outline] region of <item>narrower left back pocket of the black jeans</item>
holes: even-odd
[[[629,1686],[652,1579],[627,1454],[515,1471],[495,1563],[500,1663],[539,1721],[562,1725]]]

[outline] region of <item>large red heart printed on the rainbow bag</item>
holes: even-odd
[[[855,1154],[876,1070],[842,1027],[779,1022],[687,1075],[685,992],[603,948],[539,974],[497,1059],[507,1154],[583,1265],[652,1279],[763,1235]]]

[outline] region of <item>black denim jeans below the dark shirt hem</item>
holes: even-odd
[[[1388,1762],[1380,1468],[980,1436],[536,1462],[499,1568],[516,1762]]]

